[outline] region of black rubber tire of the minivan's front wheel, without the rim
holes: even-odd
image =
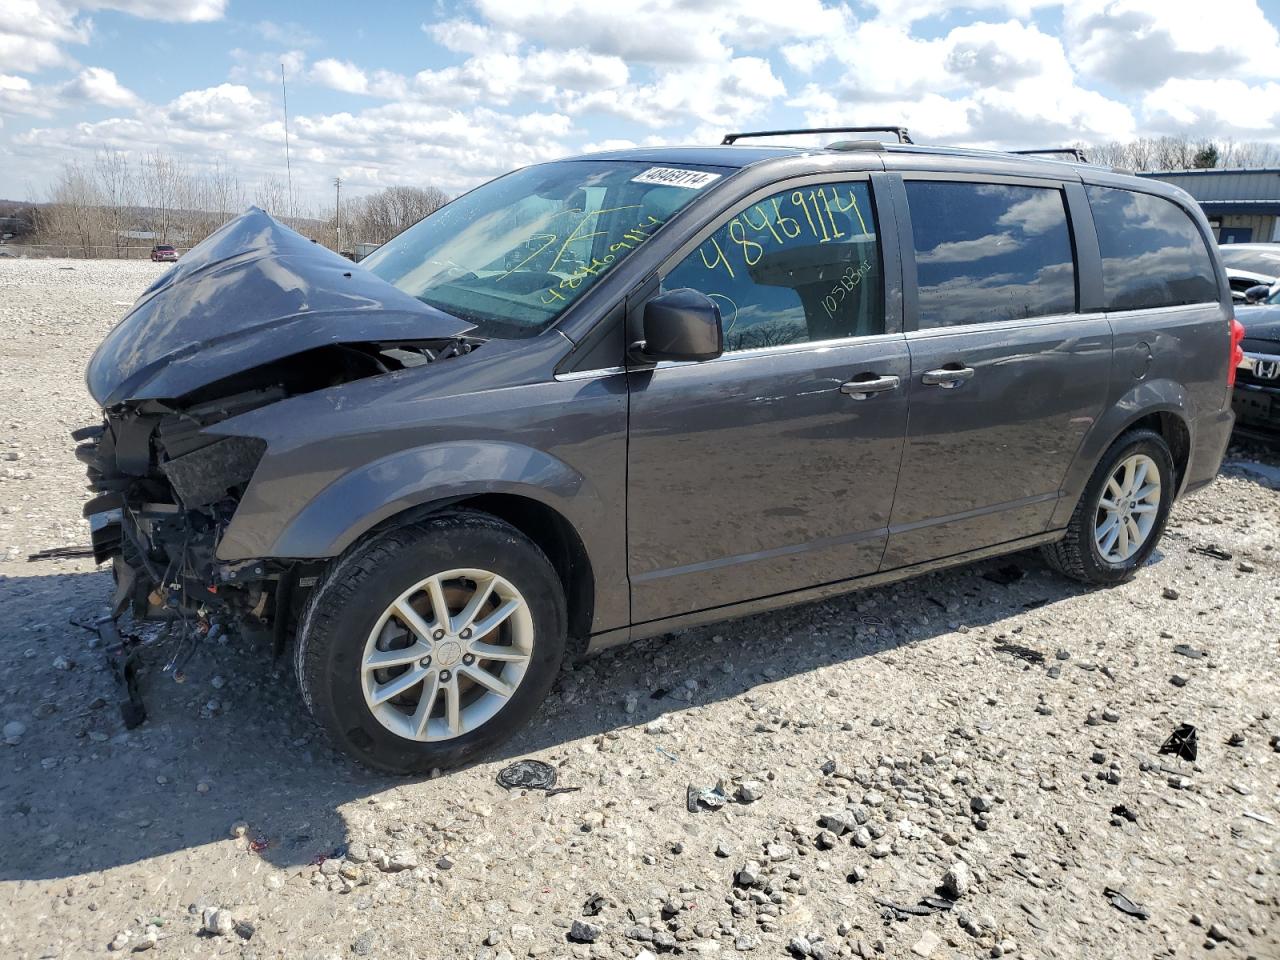
[[[452,740],[422,742],[383,726],[365,701],[361,658],[370,631],[403,590],[434,572],[474,567],[524,596],[534,623],[529,668],[488,722]],[[545,554],[486,513],[428,517],[364,540],[334,561],[302,612],[294,669],[302,699],[333,742],[390,773],[426,773],[476,759],[520,730],[547,696],[566,648],[564,591]]]

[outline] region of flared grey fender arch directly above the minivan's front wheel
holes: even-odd
[[[604,508],[591,484],[563,461],[498,440],[413,447],[361,465],[307,500],[283,526],[255,522],[255,516],[261,516],[251,502],[257,480],[218,545],[220,559],[335,557],[370,529],[406,509],[485,493],[518,494],[545,503],[571,524],[575,515]],[[265,499],[274,498],[268,493]]]

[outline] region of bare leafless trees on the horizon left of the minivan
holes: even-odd
[[[92,163],[64,164],[45,202],[10,206],[29,223],[14,238],[22,243],[70,256],[137,257],[155,243],[192,247],[250,205],[330,248],[340,237],[342,247],[352,250],[356,243],[384,243],[448,200],[435,187],[387,187],[344,198],[339,216],[332,206],[291,202],[275,175],[248,186],[220,160],[193,170],[161,151],[131,160],[102,150]]]

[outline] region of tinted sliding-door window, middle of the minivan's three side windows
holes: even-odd
[[[1075,310],[1062,191],[909,180],[920,329]]]

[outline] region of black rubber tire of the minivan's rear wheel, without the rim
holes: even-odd
[[[1146,541],[1123,563],[1111,563],[1102,557],[1093,536],[1097,521],[1098,499],[1102,489],[1120,461],[1134,453],[1143,453],[1156,463],[1160,471],[1160,508],[1156,511],[1156,521],[1147,535]],[[1160,543],[1165,532],[1165,522],[1169,520],[1169,511],[1174,502],[1174,457],[1169,451],[1165,438],[1155,430],[1138,429],[1129,430],[1120,435],[1115,443],[1102,454],[1089,483],[1080,495],[1080,502],[1075,504],[1071,520],[1066,525],[1066,535],[1057,543],[1051,543],[1042,549],[1044,559],[1057,572],[1080,580],[1085,584],[1108,586],[1120,584],[1134,575],[1134,572],[1147,562],[1152,550]]]

